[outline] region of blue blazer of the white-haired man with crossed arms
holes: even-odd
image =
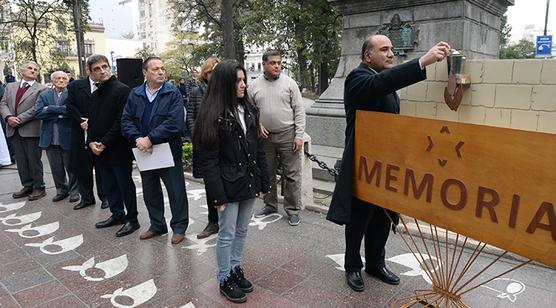
[[[60,95],[60,105],[56,105],[55,89],[44,91],[37,99],[37,106],[35,115],[37,119],[42,120],[41,125],[41,139],[39,146],[47,148],[52,144],[54,135],[54,124],[58,125],[58,134],[60,146],[62,149],[70,150],[71,138],[71,119],[67,116],[66,98],[68,91],[62,92]],[[44,111],[44,107],[47,107]]]

